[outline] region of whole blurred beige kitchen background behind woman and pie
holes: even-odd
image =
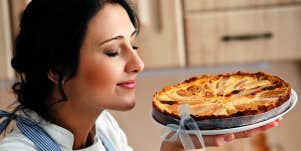
[[[10,67],[20,13],[29,0],[0,0],[0,107],[14,100]],[[137,151],[160,148],[162,126],[151,117],[152,95],[204,73],[264,71],[301,94],[301,0],[135,0],[141,22],[137,105],[115,112]],[[297,151],[301,104],[265,134],[209,151]]]

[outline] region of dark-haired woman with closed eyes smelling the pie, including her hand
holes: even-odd
[[[20,115],[1,111],[7,118],[0,130],[11,120],[17,126],[0,141],[0,150],[132,150],[106,109],[135,106],[135,79],[144,68],[136,51],[138,31],[124,0],[31,1],[12,58],[21,78],[13,86]],[[244,136],[206,136],[206,144],[275,124]],[[161,150],[183,147],[163,142]]]

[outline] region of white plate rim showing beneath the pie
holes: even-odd
[[[246,131],[246,130],[250,130],[250,129],[254,129],[254,128],[266,125],[266,124],[271,123],[271,122],[275,121],[276,119],[282,117],[286,113],[288,113],[292,108],[294,108],[294,106],[297,103],[297,100],[298,100],[297,93],[292,89],[289,107],[284,112],[282,112],[282,113],[280,113],[280,114],[278,114],[278,115],[276,115],[276,116],[274,116],[270,119],[267,119],[265,121],[258,122],[258,123],[255,123],[255,124],[251,124],[251,125],[235,127],[235,128],[229,128],[229,129],[201,130],[201,133],[202,133],[202,135],[217,135],[217,134],[236,133],[236,132]]]

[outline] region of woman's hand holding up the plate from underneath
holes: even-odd
[[[246,130],[242,132],[237,132],[237,133],[229,133],[229,134],[222,134],[222,135],[204,135],[204,141],[207,147],[210,146],[222,146],[223,144],[227,142],[231,142],[235,139],[240,139],[240,138],[248,138],[250,136],[253,136],[254,134],[264,132],[270,128],[273,128],[278,125],[279,121],[282,118],[277,119],[274,122],[271,122],[267,125],[251,129],[251,130]],[[191,135],[192,141],[197,149],[201,149],[202,146],[199,143],[199,140],[196,136]],[[175,142],[166,142],[163,141],[161,144],[161,151],[183,151],[184,148],[182,146],[181,141],[178,139]]]

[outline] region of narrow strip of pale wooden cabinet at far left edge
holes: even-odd
[[[0,80],[14,77],[10,67],[12,39],[8,0],[0,0]]]

